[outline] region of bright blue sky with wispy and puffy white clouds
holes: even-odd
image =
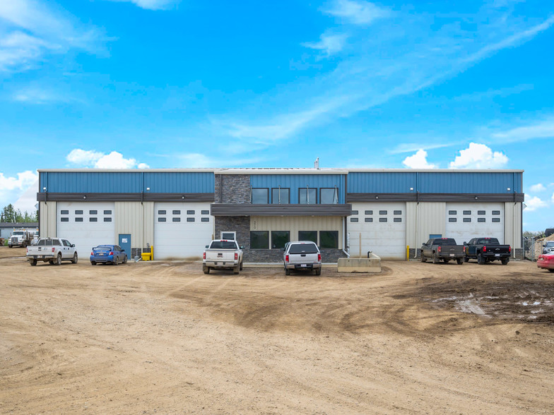
[[[524,229],[553,227],[553,26],[547,1],[0,0],[0,205],[37,169],[319,157],[524,169]]]

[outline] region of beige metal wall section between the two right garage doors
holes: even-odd
[[[406,244],[421,248],[431,234],[446,236],[446,209],[444,202],[406,203]]]

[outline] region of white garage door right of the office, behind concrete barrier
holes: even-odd
[[[348,217],[350,255],[372,251],[381,258],[406,258],[406,203],[353,203]]]

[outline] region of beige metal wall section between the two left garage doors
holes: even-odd
[[[115,240],[119,234],[131,234],[132,248],[154,243],[154,203],[115,202]]]

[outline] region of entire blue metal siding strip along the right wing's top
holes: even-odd
[[[521,193],[521,177],[515,172],[353,172],[348,193]]]

